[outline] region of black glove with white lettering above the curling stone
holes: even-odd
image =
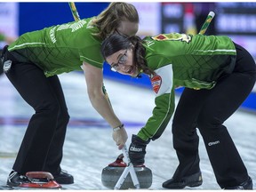
[[[150,140],[141,140],[137,135],[132,135],[132,143],[129,147],[129,157],[134,166],[144,164],[146,147],[149,141]]]

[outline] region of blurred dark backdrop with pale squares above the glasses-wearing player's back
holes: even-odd
[[[256,3],[161,3],[161,33],[198,33],[207,14],[216,13],[206,35],[225,35],[247,48],[256,59]]]

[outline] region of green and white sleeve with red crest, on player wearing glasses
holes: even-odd
[[[159,138],[169,123],[175,107],[172,65],[157,68],[155,72],[156,75],[151,76],[150,81],[156,93],[156,107],[147,124],[138,133],[142,140]]]

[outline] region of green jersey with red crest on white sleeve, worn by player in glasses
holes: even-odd
[[[171,33],[143,40],[148,67],[156,72],[150,77],[156,108],[138,135],[143,140],[156,140],[172,117],[174,89],[212,89],[221,76],[233,71],[236,48],[228,36]]]

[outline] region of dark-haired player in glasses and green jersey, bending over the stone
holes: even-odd
[[[255,84],[256,66],[249,52],[228,36],[171,33],[142,40],[114,34],[103,42],[101,53],[121,74],[147,74],[156,93],[153,115],[138,134],[132,135],[132,164],[144,164],[149,141],[162,135],[174,112],[174,89],[184,86],[188,91],[179,100],[172,124],[180,164],[163,187],[202,184],[197,127],[220,188],[252,189],[252,179],[223,125]]]

